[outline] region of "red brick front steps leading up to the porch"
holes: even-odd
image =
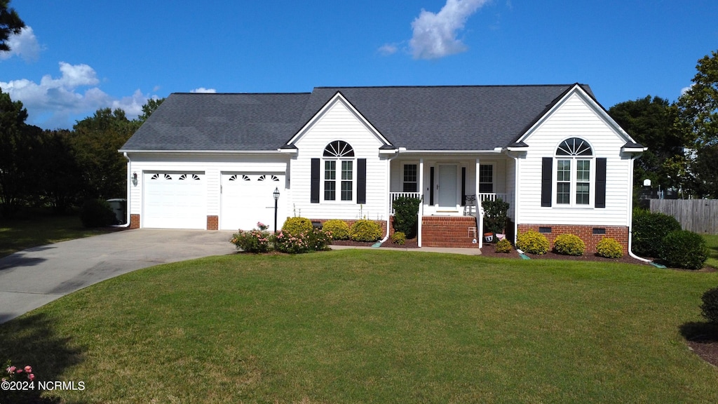
[[[469,231],[470,227],[476,227],[473,216],[424,216],[421,219],[422,247],[479,247],[473,244],[474,234]]]

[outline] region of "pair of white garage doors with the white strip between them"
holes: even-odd
[[[207,229],[209,216],[218,216],[223,230],[253,229],[258,221],[273,226],[274,190],[286,197],[284,173],[217,174],[213,178],[203,171],[144,172],[141,226]],[[285,217],[280,205],[279,226]]]

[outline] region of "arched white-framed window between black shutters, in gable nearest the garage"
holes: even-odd
[[[324,150],[324,200],[352,201],[354,190],[354,149],[342,140],[327,144]]]

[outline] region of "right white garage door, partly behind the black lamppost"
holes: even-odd
[[[281,229],[286,219],[286,212],[281,208],[281,198],[286,198],[283,173],[223,173],[220,229],[251,230],[261,221],[269,230],[274,230],[276,188],[280,193],[277,226]]]

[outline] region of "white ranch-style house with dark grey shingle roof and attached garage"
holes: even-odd
[[[477,205],[501,198],[510,238],[628,251],[644,150],[577,83],[173,93],[119,151],[133,228],[273,228],[278,190],[279,227],[365,218],[388,235],[391,201],[416,196],[420,245],[476,247]]]

